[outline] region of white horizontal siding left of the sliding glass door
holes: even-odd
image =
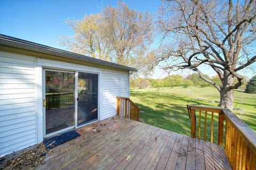
[[[36,144],[35,58],[0,52],[0,156]]]

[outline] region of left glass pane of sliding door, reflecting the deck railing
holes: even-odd
[[[45,70],[46,134],[74,126],[75,73]]]

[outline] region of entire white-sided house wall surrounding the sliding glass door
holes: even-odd
[[[42,84],[38,83],[43,67],[98,72],[100,120],[116,115],[116,96],[129,97],[128,71],[0,51],[0,157],[43,140]]]

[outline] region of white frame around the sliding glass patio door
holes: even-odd
[[[44,79],[45,75],[43,75],[44,69],[52,69],[52,70],[61,70],[61,71],[70,71],[75,72],[75,86],[77,83],[77,72],[84,73],[93,73],[98,74],[98,121],[102,120],[102,69],[99,67],[93,67],[88,65],[81,65],[75,63],[68,63],[57,60],[49,60],[46,58],[37,57],[35,60],[35,73],[36,73],[36,126],[37,126],[37,143],[43,142],[43,139],[46,138],[44,136],[44,120],[43,116],[45,112],[43,109],[43,99],[45,99],[44,91]],[[77,91],[75,91],[75,96],[77,98]],[[80,128],[87,124],[83,124],[81,126],[77,126],[76,120],[76,100],[75,100],[75,128]],[[93,122],[90,122],[93,123]],[[89,124],[90,124],[89,123]]]

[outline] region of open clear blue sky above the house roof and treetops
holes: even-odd
[[[130,8],[137,11],[157,12],[161,1],[159,0],[130,0],[124,1]],[[99,13],[105,6],[116,6],[114,0],[45,0],[45,1],[19,1],[0,0],[0,33],[21,38],[35,43],[65,49],[59,43],[61,36],[71,36],[74,31],[65,24],[68,18],[82,19],[85,14]],[[215,75],[211,69],[203,68],[204,73]],[[171,74],[187,75],[185,72],[171,72]],[[246,74],[252,77],[252,72]],[[153,78],[165,77],[167,74],[156,69]]]

